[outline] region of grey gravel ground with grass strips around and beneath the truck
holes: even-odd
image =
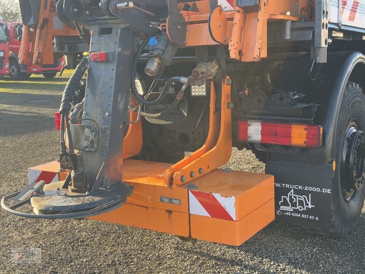
[[[0,196],[27,185],[27,167],[55,159],[53,113],[65,82],[0,80]],[[228,166],[263,172],[249,151]],[[0,210],[0,273],[365,273],[365,214],[345,238],[273,222],[240,247],[93,220],[31,220]],[[38,247],[42,262],[14,264],[11,248]]]

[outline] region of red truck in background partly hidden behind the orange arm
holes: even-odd
[[[12,79],[23,79],[28,78],[32,74],[42,74],[46,78],[53,78],[56,76],[57,72],[60,72],[64,67],[64,58],[55,58],[54,64],[43,65],[43,66],[26,66],[19,64],[19,50],[22,44],[23,35],[23,23],[22,22],[12,22],[8,24],[9,30],[9,66],[10,74]]]

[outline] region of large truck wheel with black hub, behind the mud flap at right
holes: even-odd
[[[331,228],[295,225],[308,232],[346,236],[360,218],[365,195],[365,96],[348,81],[339,108],[335,131],[335,172],[331,190]]]

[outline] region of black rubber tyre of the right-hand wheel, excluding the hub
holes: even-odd
[[[365,184],[360,190],[354,188],[352,193],[351,191],[347,192],[349,190],[347,187],[345,191],[344,186],[350,185],[350,177],[346,174],[349,165],[346,165],[341,159],[343,148],[346,145],[345,142],[348,142],[345,134],[349,132],[349,127],[355,126],[356,128],[357,126],[357,130],[365,131],[365,96],[358,84],[347,82],[339,114],[340,117],[335,132],[336,170],[332,179],[331,190],[331,229],[324,231],[306,226],[300,227],[308,232],[327,236],[346,236],[359,220],[364,205]],[[360,155],[362,154],[364,153]],[[365,156],[361,158],[364,159]],[[361,173],[364,171],[364,167],[362,164],[360,166],[362,166]],[[362,175],[364,175],[364,172]],[[296,227],[299,226],[296,225]]]

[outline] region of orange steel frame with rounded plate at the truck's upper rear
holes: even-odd
[[[182,11],[187,23],[185,46],[223,44],[228,45],[233,59],[260,61],[267,57],[267,23],[274,20],[299,21],[299,17],[285,15],[285,11],[293,11],[294,3],[300,9],[306,0],[260,1],[259,11],[249,13],[237,5],[234,5],[234,11],[223,11],[219,6],[210,12],[209,0],[196,1],[199,12]],[[183,9],[183,5],[178,7]],[[167,32],[169,34],[170,30],[167,29]]]

